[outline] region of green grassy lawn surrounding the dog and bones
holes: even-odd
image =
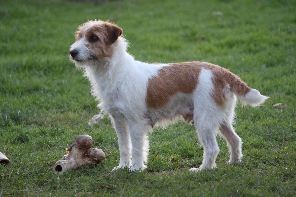
[[[287,1],[0,1],[0,196],[295,196],[296,2]],[[215,15],[220,11],[223,15]],[[149,62],[208,61],[230,69],[271,98],[237,107],[243,163],[194,174],[202,147],[193,125],[154,129],[148,169],[111,172],[117,136],[99,113],[89,83],[69,61],[74,31],[87,19],[112,19]],[[286,108],[273,108],[275,103]],[[110,157],[54,175],[75,136],[88,134]]]

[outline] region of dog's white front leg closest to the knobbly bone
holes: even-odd
[[[115,131],[118,137],[120,161],[119,165],[114,167],[112,171],[118,168],[131,167],[131,142],[126,122],[123,116],[111,116]]]

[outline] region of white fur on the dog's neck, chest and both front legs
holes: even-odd
[[[121,158],[115,169],[125,166],[131,170],[145,169],[149,150],[149,125],[144,117],[147,111],[145,92],[148,79],[156,75],[162,65],[135,61],[126,51],[126,42],[121,37],[114,44],[112,58],[102,60],[99,65],[90,61],[91,64],[83,66],[83,70],[91,82],[93,95],[101,101],[99,108],[111,116],[118,128]]]

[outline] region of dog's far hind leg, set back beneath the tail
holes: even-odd
[[[220,132],[225,137],[227,141],[227,146],[229,147],[230,159],[229,163],[241,163],[242,155],[242,139],[235,133],[231,122],[223,122],[219,127]]]

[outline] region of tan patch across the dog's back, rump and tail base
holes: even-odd
[[[149,108],[160,108],[169,102],[170,97],[178,92],[190,94],[198,84],[198,76],[202,69],[213,72],[213,100],[219,106],[225,104],[225,87],[230,85],[231,91],[245,95],[250,91],[238,76],[225,68],[207,62],[182,62],[163,66],[157,76],[149,79],[146,103]]]

